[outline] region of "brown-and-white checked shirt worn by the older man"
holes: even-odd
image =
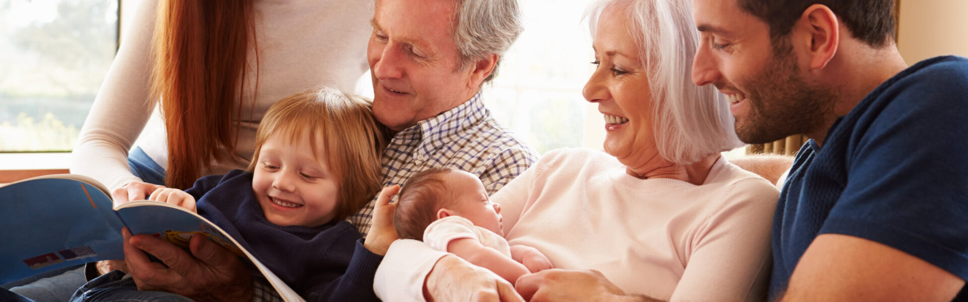
[[[536,160],[537,153],[501,126],[477,93],[468,102],[393,136],[383,151],[381,182],[384,187],[403,186],[416,172],[452,167],[477,175],[492,195]],[[374,197],[347,219],[363,237],[370,231],[376,201]]]

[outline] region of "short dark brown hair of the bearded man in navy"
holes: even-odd
[[[814,4],[825,5],[840,18],[847,30],[873,47],[888,45],[894,39],[893,0],[737,0],[746,13],[770,26],[774,48],[782,48],[794,23]]]

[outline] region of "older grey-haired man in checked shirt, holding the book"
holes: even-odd
[[[515,0],[377,1],[367,56],[374,115],[393,135],[382,158],[384,185],[449,166],[474,173],[494,193],[534,162],[535,153],[499,125],[480,96],[500,55],[521,33],[519,18]],[[371,202],[349,218],[364,236],[374,210]],[[164,242],[139,242],[141,250],[175,265],[137,263],[138,288],[216,300],[258,298],[270,290],[239,282],[234,276],[247,273],[238,260],[210,242],[199,245],[196,257]]]

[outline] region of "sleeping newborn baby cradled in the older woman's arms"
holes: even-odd
[[[462,257],[514,284],[518,277],[552,268],[537,249],[508,246],[500,205],[488,198],[480,179],[452,168],[411,176],[401,189],[393,221],[402,239]]]

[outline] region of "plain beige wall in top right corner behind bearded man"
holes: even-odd
[[[968,57],[968,1],[899,1],[897,48],[908,65],[944,54]]]

